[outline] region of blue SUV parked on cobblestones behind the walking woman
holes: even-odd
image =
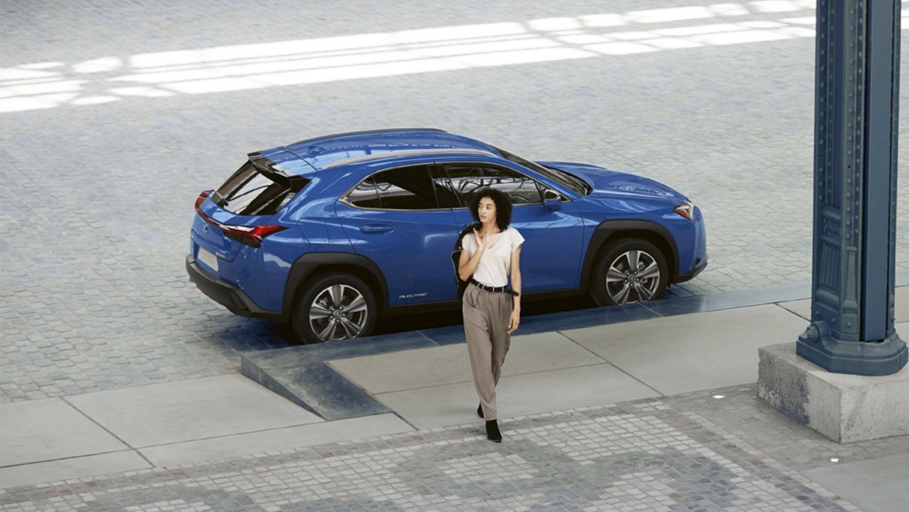
[[[514,204],[527,299],[653,300],[707,265],[704,218],[668,186],[408,128],[250,154],[196,199],[186,270],[230,311],[305,342],[368,336],[378,319],[460,306],[452,247],[483,186]]]

